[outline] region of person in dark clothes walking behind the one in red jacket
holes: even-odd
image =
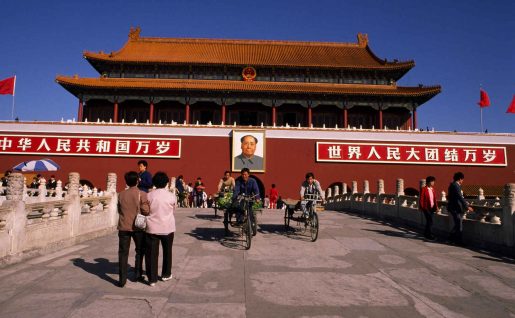
[[[461,193],[461,185],[464,179],[465,175],[462,172],[456,172],[453,177],[454,181],[451,182],[447,191],[447,210],[454,222],[450,240],[457,244],[462,244],[463,214],[473,211]]]

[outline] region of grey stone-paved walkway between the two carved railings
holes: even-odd
[[[155,287],[116,287],[116,234],[1,269],[0,317],[515,317],[512,259],[345,213],[320,213],[314,243],[278,211],[259,223],[245,251],[212,210],[179,210],[176,278]]]

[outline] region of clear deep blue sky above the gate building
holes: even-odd
[[[356,42],[367,33],[380,58],[414,60],[398,85],[442,85],[419,108],[420,127],[480,130],[479,87],[489,132],[515,133],[506,109],[515,94],[515,1],[219,0],[5,1],[0,79],[17,75],[20,120],[77,116],[77,99],[58,74],[96,77],[82,52],[116,51],[131,26],[141,36]],[[0,120],[12,98],[0,95]]]

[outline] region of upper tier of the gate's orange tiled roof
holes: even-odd
[[[140,37],[131,28],[121,50],[109,54],[84,52],[94,63],[165,63],[234,66],[316,67],[373,70],[408,70],[413,61],[387,62],[368,46],[366,34],[357,43],[263,40],[219,40]]]

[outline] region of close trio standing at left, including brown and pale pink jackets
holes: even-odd
[[[144,281],[143,261],[148,284],[158,281],[159,244],[163,250],[163,264],[160,279],[172,279],[172,248],[175,228],[175,207],[177,198],[174,192],[166,189],[170,182],[168,175],[157,172],[154,176],[147,171],[147,162],[138,162],[139,173],[125,174],[128,189],[118,195],[118,261],[119,286],[127,282],[128,258],[131,239],[134,241],[136,256],[134,261],[135,279]],[[155,187],[151,192],[149,190]],[[146,216],[146,228],[135,226],[137,215]]]

